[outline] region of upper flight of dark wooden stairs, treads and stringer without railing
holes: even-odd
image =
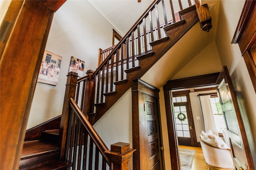
[[[190,6],[180,11],[179,16],[179,21],[164,27],[166,37],[150,42],[152,50],[136,56],[138,66],[124,70],[126,72],[126,79],[114,82],[115,90],[104,93],[105,102],[94,104],[96,107],[95,111],[87,114],[92,124],[96,123],[132,86],[133,80],[141,78],[198,21],[196,6]],[[120,64],[122,63],[119,62]],[[116,69],[118,68],[116,67]]]

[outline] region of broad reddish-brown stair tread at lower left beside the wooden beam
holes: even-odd
[[[46,154],[49,152],[57,152],[59,148],[56,144],[44,142],[44,141],[28,141],[24,142],[21,159],[30,158],[33,156]]]

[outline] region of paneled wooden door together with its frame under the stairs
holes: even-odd
[[[134,170],[164,170],[159,90],[136,80],[132,86]]]

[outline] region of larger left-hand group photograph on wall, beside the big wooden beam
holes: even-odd
[[[45,50],[37,81],[56,86],[60,74],[61,61],[61,56]]]

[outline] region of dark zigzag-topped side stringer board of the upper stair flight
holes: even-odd
[[[126,75],[127,82],[116,85],[116,94],[106,96],[106,104],[96,107],[96,115],[89,117],[92,125],[96,123],[105,113],[112,107],[120,97],[132,86],[133,80],[141,78],[193,25],[198,21],[198,15],[194,6],[190,7],[186,13],[180,13],[181,19],[185,23],[166,31],[166,35],[170,38],[162,43],[152,46],[154,55],[139,61],[140,69],[129,72]]]

